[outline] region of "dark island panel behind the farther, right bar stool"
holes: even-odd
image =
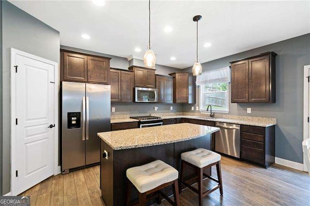
[[[207,134],[196,139],[174,143],[174,155],[175,155],[174,168],[176,168],[180,172],[181,154],[183,152],[188,152],[197,148],[204,148],[211,150],[211,134]],[[204,173],[207,175],[211,175],[211,168],[205,169]],[[195,177],[196,175],[197,172],[193,168],[186,165],[185,170],[183,171],[183,178],[188,179],[191,177]]]

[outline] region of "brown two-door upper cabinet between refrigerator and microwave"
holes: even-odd
[[[134,91],[134,74],[132,71],[110,69],[111,102],[132,103]]]

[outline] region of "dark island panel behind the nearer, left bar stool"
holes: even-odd
[[[114,150],[114,206],[125,205],[126,170],[155,160],[161,160],[174,166],[174,144]],[[132,191],[132,200],[138,199],[136,189]],[[168,192],[171,194],[172,190],[169,189]],[[110,205],[108,204],[108,206]]]

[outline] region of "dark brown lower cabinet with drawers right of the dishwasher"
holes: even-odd
[[[275,126],[241,126],[241,160],[268,168],[275,162]]]

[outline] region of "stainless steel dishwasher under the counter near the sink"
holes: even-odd
[[[240,158],[240,125],[216,122],[220,130],[215,133],[215,150]]]

